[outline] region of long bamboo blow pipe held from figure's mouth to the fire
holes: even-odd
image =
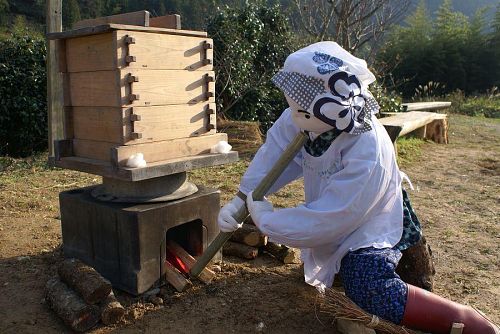
[[[304,146],[307,139],[308,136],[303,132],[299,132],[297,136],[295,136],[295,138],[291,141],[286,150],[280,156],[278,161],[276,161],[271,170],[267,173],[266,176],[264,176],[255,190],[252,192],[254,200],[260,201],[264,198],[269,189],[271,189],[274,182],[276,182],[281,173],[283,173],[288,164],[297,155],[302,146]],[[237,222],[243,222],[247,216],[248,212],[246,206],[243,205],[243,207],[233,216],[233,218],[236,219]],[[231,238],[232,234],[233,232],[220,232],[219,235],[215,237],[214,241],[212,241],[210,245],[208,245],[205,252],[198,258],[198,261],[196,261],[194,266],[191,268],[189,274],[192,277],[198,277],[198,275],[203,270],[203,268],[206,267],[208,262],[212,260],[215,254],[222,248],[222,246],[224,246],[226,241]]]

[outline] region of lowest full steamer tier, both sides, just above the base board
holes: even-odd
[[[152,107],[68,107],[75,139],[135,145],[215,133],[215,104]],[[139,119],[138,121],[132,121]],[[214,125],[214,128],[209,127]],[[133,133],[141,138],[134,139]]]

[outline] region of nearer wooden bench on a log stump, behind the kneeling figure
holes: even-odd
[[[395,113],[380,119],[396,142],[398,137],[411,134],[414,137],[430,139],[439,144],[448,144],[448,118],[446,114],[427,111]]]

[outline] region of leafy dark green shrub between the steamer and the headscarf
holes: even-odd
[[[214,40],[219,114],[271,124],[286,106],[270,82],[291,52],[291,31],[280,6],[263,1],[225,6],[207,27]]]

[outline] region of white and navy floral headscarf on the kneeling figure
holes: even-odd
[[[335,54],[335,56],[333,56]],[[379,106],[367,86],[375,80],[366,62],[334,42],[292,53],[272,82],[317,119],[350,133],[372,129]]]

